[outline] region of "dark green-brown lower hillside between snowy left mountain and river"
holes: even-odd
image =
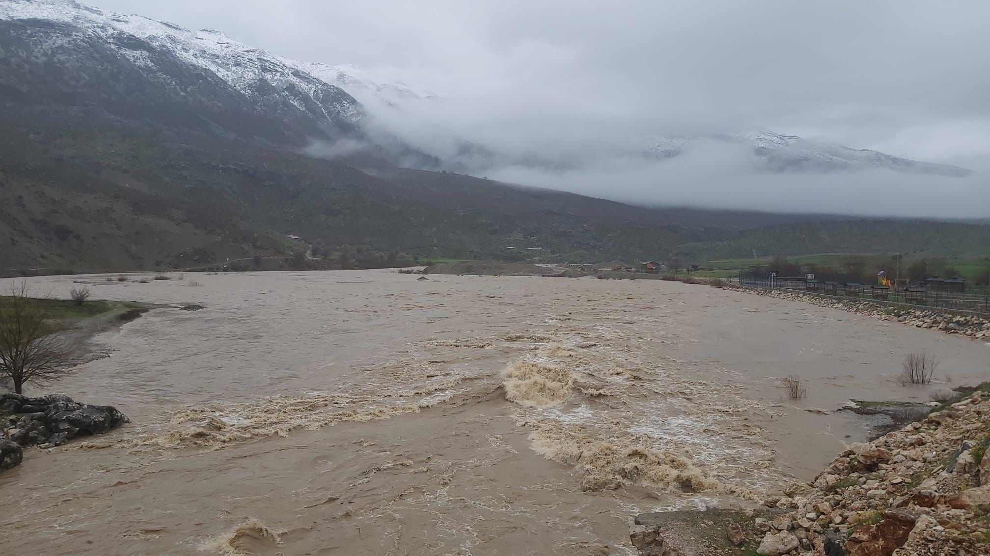
[[[450,186],[419,187],[240,141],[40,122],[0,122],[0,268],[188,266],[283,250],[287,233],[426,256],[542,246],[577,258],[721,236],[579,195],[430,172]],[[474,193],[454,194],[465,183]]]

